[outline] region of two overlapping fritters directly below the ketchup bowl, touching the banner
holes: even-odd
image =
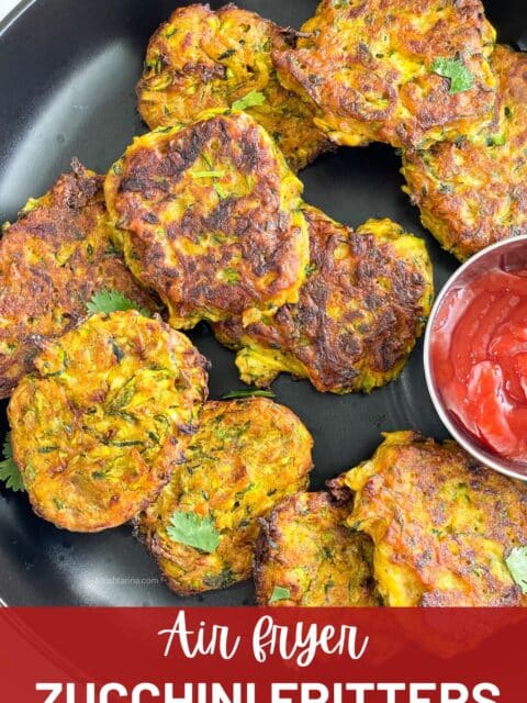
[[[506,559],[527,543],[527,487],[456,443],[385,435],[371,460],[266,521],[257,600],[276,605],[524,606]]]

